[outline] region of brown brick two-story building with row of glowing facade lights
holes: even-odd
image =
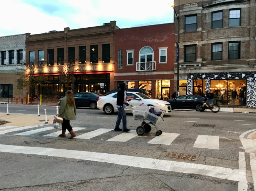
[[[105,93],[114,88],[115,21],[102,26],[27,33],[26,58],[33,75],[46,77],[35,85],[35,95],[60,97],[74,93]]]

